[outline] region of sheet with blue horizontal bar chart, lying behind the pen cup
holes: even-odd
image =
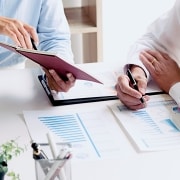
[[[60,109],[24,111],[30,137],[38,144],[47,144],[51,131],[55,142],[72,145],[73,158],[88,160],[116,158],[122,153],[119,125],[107,106],[71,111]],[[43,148],[43,146],[41,146]]]

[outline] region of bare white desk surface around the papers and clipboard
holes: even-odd
[[[22,116],[23,110],[88,108],[106,106],[116,101],[53,107],[33,69],[0,71],[0,142],[19,137],[27,150],[10,162],[9,168],[20,173],[22,180],[35,180],[30,137]],[[137,152],[121,131],[122,155],[116,159],[72,162],[72,180],[179,180],[180,151]]]

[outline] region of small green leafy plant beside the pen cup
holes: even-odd
[[[4,180],[4,176],[12,177],[12,180],[19,180],[19,175],[8,172],[8,162],[13,158],[24,152],[24,148],[20,147],[15,140],[10,140],[0,145],[0,180]]]

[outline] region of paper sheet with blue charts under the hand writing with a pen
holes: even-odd
[[[171,115],[174,107],[169,96],[161,95],[151,96],[145,109],[131,111],[122,104],[110,109],[140,151],[158,151],[180,148],[180,131]]]

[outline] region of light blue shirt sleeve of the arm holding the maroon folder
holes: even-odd
[[[62,0],[43,0],[37,31],[40,50],[54,52],[63,60],[73,62],[70,28]]]

